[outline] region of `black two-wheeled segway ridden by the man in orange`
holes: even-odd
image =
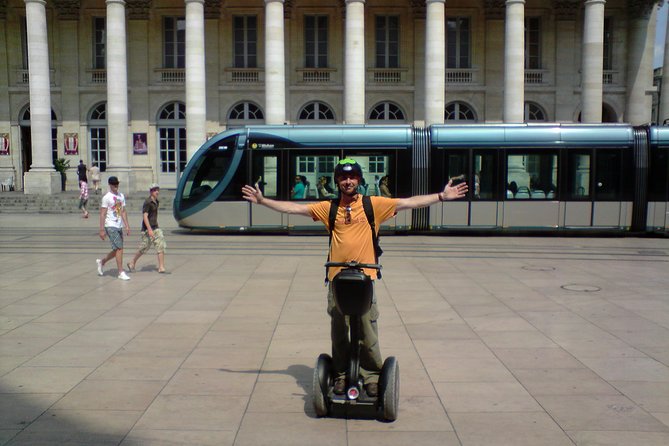
[[[337,309],[349,317],[349,339],[351,341],[349,367],[346,373],[346,391],[343,395],[334,393],[332,358],[322,353],[316,361],[313,377],[313,400],[319,417],[331,413],[334,405],[367,406],[387,420],[395,421],[399,406],[400,371],[397,360],[389,356],[383,362],[379,377],[378,396],[369,396],[364,390],[360,377],[360,334],[361,316],[372,307],[372,279],[363,268],[381,269],[381,265],[358,262],[328,262],[326,267],[343,267],[332,280],[332,290]]]

